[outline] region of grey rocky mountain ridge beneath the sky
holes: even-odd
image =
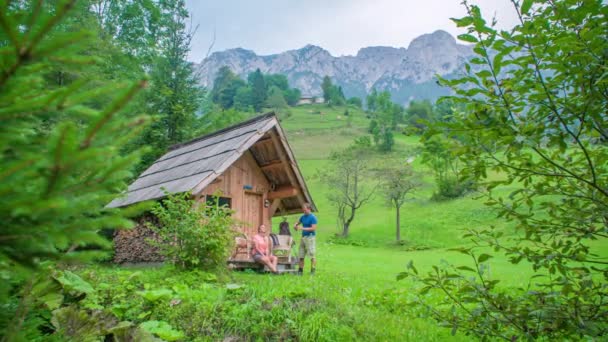
[[[304,95],[320,95],[325,75],[342,86],[347,97],[365,95],[372,89],[388,90],[393,100],[434,100],[449,93],[436,84],[435,75],[450,76],[463,69],[472,47],[457,44],[445,31],[414,39],[408,48],[366,47],[356,56],[334,57],[314,45],[276,55],[258,56],[241,48],[215,52],[197,65],[200,83],[213,86],[220,67],[227,65],[243,78],[259,68],[264,73],[287,76],[292,87]]]

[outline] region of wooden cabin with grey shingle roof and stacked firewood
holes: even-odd
[[[300,213],[306,202],[317,210],[274,113],[173,146],[108,207],[161,199],[165,191],[189,192],[196,201],[207,201],[220,191],[220,203],[234,211],[237,228],[247,237],[255,235],[260,224],[271,227],[273,216]],[[114,260],[160,261],[143,241],[153,238],[151,234],[143,223],[117,231]]]

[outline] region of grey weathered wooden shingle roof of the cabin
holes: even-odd
[[[300,199],[312,203],[283,130],[274,113],[268,113],[172,147],[129,185],[124,196],[114,199],[108,207],[123,207],[159,199],[165,197],[165,191],[172,194],[187,191],[197,194],[258,140],[270,133],[276,134],[280,148],[290,159],[286,167],[291,167],[291,170],[287,172],[293,172],[292,175],[295,175],[292,179],[301,189],[303,196],[300,196]],[[298,209],[301,203],[292,203],[292,206]]]

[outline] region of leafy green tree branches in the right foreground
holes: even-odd
[[[466,1],[455,19],[475,43],[466,75],[442,80],[466,105],[436,132],[458,135],[465,173],[487,187],[487,205],[518,229],[468,233],[474,267],[434,267],[409,276],[453,332],[482,339],[599,338],[608,334],[608,6],[602,1],[511,1],[520,22],[488,25]],[[442,130],[443,129],[443,130]],[[489,180],[488,172],[502,179]],[[493,190],[516,187],[508,196]],[[528,267],[522,287],[498,286],[488,251]],[[526,274],[522,272],[522,274]]]

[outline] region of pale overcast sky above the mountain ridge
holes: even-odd
[[[270,55],[318,45],[333,56],[355,55],[366,46],[407,47],[422,34],[462,33],[450,21],[465,11],[461,0],[186,0],[198,30],[190,60],[242,47]],[[509,0],[470,0],[499,27],[516,21]],[[460,31],[459,31],[460,30]],[[215,44],[212,45],[215,31]]]

